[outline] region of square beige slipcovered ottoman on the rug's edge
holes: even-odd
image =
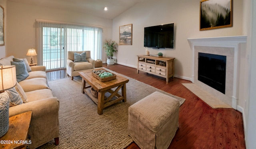
[[[129,107],[128,135],[141,149],[167,149],[179,127],[180,103],[154,92]]]

